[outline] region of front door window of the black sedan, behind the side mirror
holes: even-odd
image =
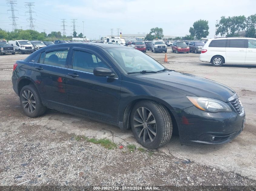
[[[94,54],[79,50],[74,51],[72,69],[93,73],[93,69],[97,67],[109,68],[105,62],[101,61]]]

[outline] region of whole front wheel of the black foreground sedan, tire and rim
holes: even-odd
[[[130,123],[136,140],[146,148],[161,147],[171,139],[170,113],[165,106],[155,101],[136,103],[131,110]]]

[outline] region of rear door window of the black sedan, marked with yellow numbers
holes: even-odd
[[[55,50],[48,52],[45,54],[44,64],[65,68],[67,55],[68,50]]]

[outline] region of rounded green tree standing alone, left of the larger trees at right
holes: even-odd
[[[206,38],[209,35],[209,25],[206,20],[195,21],[193,27],[189,28],[189,33],[192,37],[197,39]]]

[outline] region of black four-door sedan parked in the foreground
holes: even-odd
[[[46,46],[16,61],[12,84],[30,117],[48,107],[122,130],[131,127],[146,148],[165,145],[174,130],[181,142],[229,142],[245,123],[244,108],[231,88],[169,70],[126,46]]]

